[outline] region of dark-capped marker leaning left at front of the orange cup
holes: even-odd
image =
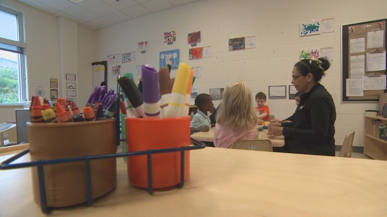
[[[137,88],[136,84],[134,84],[133,79],[123,77],[123,78],[117,79],[117,82],[118,84],[120,84],[125,95],[128,97],[127,99],[129,99],[130,105],[133,106],[136,116],[145,117],[144,105],[143,105],[144,101],[142,99],[142,94],[140,90]],[[128,110],[127,110],[127,115],[128,115]]]

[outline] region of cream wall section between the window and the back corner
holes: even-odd
[[[59,97],[65,97],[65,77],[63,73],[78,73],[78,70],[85,73],[83,70],[84,65],[89,64],[91,66],[93,62],[91,59],[93,58],[91,55],[92,45],[90,44],[93,41],[93,32],[82,28],[82,34],[78,34],[78,24],[76,22],[56,17],[16,0],[0,0],[0,3],[23,13],[24,38],[27,44],[28,97],[31,98],[35,94],[37,86],[43,86],[46,97],[49,98],[50,78],[59,80]],[[83,56],[78,56],[78,42],[87,40],[89,42],[86,45],[81,45],[81,47],[82,52],[88,52],[90,56],[83,60]],[[62,49],[60,49],[61,44]],[[78,62],[81,62],[81,64],[78,64]],[[91,77],[91,75],[87,76]],[[78,84],[83,81],[87,82],[88,78],[85,76],[77,78]],[[88,86],[77,89],[79,99],[87,97],[83,94],[88,95],[91,92],[91,87],[89,89],[86,87]],[[0,106],[0,123],[4,120],[15,120],[14,108],[16,107]]]

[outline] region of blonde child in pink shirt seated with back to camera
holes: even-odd
[[[258,118],[249,88],[243,82],[227,87],[223,93],[222,108],[216,117],[215,147],[230,148],[235,140],[255,139],[257,124]]]

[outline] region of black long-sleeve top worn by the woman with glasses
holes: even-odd
[[[294,122],[282,123],[290,152],[334,156],[336,109],[325,87],[317,84],[304,93],[294,117]]]

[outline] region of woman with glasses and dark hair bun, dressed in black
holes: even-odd
[[[319,82],[329,68],[325,58],[304,59],[294,65],[292,84],[301,96],[295,121],[270,126],[269,136],[285,136],[285,146],[274,151],[334,156],[336,109],[332,96]]]

